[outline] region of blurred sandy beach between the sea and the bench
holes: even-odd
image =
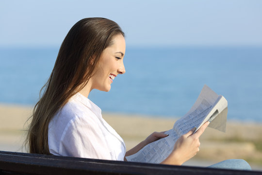
[[[23,151],[26,120],[33,107],[0,104],[0,150]],[[173,127],[176,119],[139,114],[103,113],[103,118],[124,139],[127,149],[144,140],[154,131]],[[200,138],[197,156],[184,165],[209,166],[229,158],[246,159],[255,170],[262,170],[262,123],[228,121],[226,133],[207,128]]]

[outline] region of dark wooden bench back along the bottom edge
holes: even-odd
[[[262,175],[262,172],[171,166],[0,151],[0,175]]]

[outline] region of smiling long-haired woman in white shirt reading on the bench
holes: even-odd
[[[30,153],[124,160],[148,143],[164,138],[154,132],[126,152],[122,138],[106,123],[100,108],[88,99],[92,89],[109,91],[125,73],[124,33],[112,20],[84,18],[68,32],[59,50],[44,93],[35,105],[29,128]],[[180,137],[162,163],[181,165],[199,151],[195,128]]]

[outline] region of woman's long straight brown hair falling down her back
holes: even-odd
[[[64,39],[42,97],[34,106],[27,144],[30,153],[50,154],[48,126],[55,113],[87,83],[95,73],[101,53],[115,35],[124,33],[112,20],[84,18]]]

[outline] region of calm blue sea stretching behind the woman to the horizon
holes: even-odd
[[[0,104],[33,106],[59,48],[0,48]],[[262,123],[262,47],[128,47],[126,73],[89,99],[103,112],[178,118],[204,85],[228,100],[228,120]]]

